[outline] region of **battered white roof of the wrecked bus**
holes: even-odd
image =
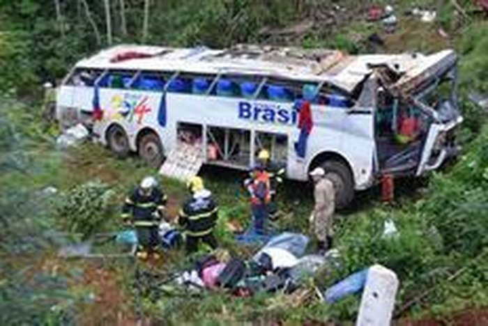
[[[404,77],[428,62],[451,56],[450,49],[422,54],[350,56],[330,49],[236,45],[229,49],[117,45],[82,59],[77,68],[153,70],[195,74],[238,74],[326,82],[352,92],[369,75],[369,65],[388,65]],[[132,58],[132,59],[131,59]]]

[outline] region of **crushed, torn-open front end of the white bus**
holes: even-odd
[[[426,56],[406,72],[373,68],[376,82],[376,167],[380,174],[420,176],[459,151],[456,127],[457,55],[445,50]]]

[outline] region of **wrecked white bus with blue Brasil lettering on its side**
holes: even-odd
[[[323,166],[337,205],[386,173],[421,176],[456,154],[457,55],[120,45],[79,61],[57,118],[157,166],[182,141],[206,164],[249,169],[268,148],[287,177]]]

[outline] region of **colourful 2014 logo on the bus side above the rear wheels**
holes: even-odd
[[[107,118],[109,120],[127,120],[129,123],[136,122],[138,125],[142,124],[144,116],[151,112],[151,107],[148,105],[147,95],[117,94],[112,97],[107,110]]]

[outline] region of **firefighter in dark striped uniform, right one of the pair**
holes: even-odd
[[[200,177],[191,178],[187,187],[191,197],[185,201],[178,216],[178,224],[185,228],[186,251],[188,254],[197,251],[200,240],[215,249],[218,243],[213,228],[218,219],[218,204]]]

